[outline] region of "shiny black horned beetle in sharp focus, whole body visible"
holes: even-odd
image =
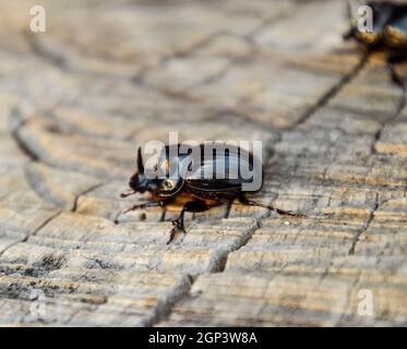
[[[179,151],[180,144],[176,145],[176,148],[177,151]],[[170,204],[182,205],[179,217],[172,220],[173,228],[170,231],[167,244],[172,241],[177,231],[182,231],[183,233],[187,232],[183,222],[185,212],[205,212],[214,206],[223,205],[226,203],[232,204],[235,200],[238,200],[242,205],[265,207],[278,213],[279,215],[292,217],[302,216],[300,214],[274,208],[270,205],[263,205],[246,197],[246,191],[242,188],[243,183],[248,183],[252,181],[255,176],[261,174],[261,186],[263,185],[263,167],[261,167],[261,169],[255,169],[255,167],[253,166],[254,156],[252,153],[247,152],[240,147],[236,147],[235,149],[229,149],[222,155],[212,154],[212,156],[207,156],[204,151],[204,145],[201,144],[199,146],[199,154],[201,155],[197,171],[193,172],[189,177],[183,177],[181,176],[181,173],[187,170],[187,167],[190,168],[192,152],[189,152],[184,155],[179,155],[179,152],[176,152],[177,155],[171,157],[169,149],[170,146],[168,145],[164,147],[164,151],[158,156],[154,166],[155,170],[159,168],[164,169],[167,176],[165,178],[152,178],[151,176],[146,174],[146,169],[144,168],[143,163],[142,148],[139,147],[136,157],[137,168],[135,173],[130,178],[130,191],[120,194],[121,197],[127,197],[135,193],[149,192],[153,196],[153,201],[131,206],[130,208],[125,209],[123,214],[140,208],[157,206],[165,208],[167,205]],[[216,167],[219,166],[220,163],[225,164],[224,179],[202,176],[202,173],[205,173],[205,170],[207,170],[208,168],[215,171]],[[240,171],[237,177],[231,178],[231,169],[236,169],[241,164],[253,168],[252,179],[243,179]],[[169,169],[173,165],[175,168],[178,169],[178,172],[176,176],[170,176]],[[261,188],[258,191],[260,190]]]

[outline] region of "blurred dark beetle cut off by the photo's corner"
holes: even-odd
[[[387,65],[393,82],[406,89],[402,76],[394,69],[394,64],[407,58],[407,4],[370,1],[367,5],[371,8],[373,14],[372,31],[360,31],[358,28],[348,2],[350,29],[344,35],[344,38],[346,40],[356,39],[367,49],[368,55],[378,50],[386,51],[388,53]]]

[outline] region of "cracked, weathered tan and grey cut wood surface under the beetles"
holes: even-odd
[[[46,33],[34,4],[0,3],[0,325],[407,324],[404,93],[345,1],[44,0]],[[119,193],[170,131],[261,140],[251,197],[306,217],[234,204],[166,245],[177,212]]]

